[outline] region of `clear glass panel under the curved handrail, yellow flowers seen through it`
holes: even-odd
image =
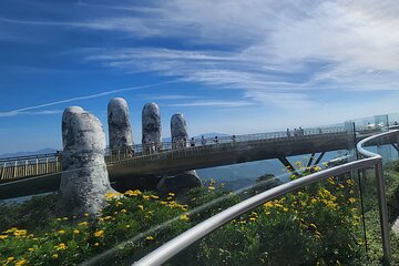
[[[168,265],[358,264],[361,205],[351,174],[267,202],[185,249]]]

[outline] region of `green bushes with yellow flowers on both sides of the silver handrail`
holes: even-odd
[[[170,265],[357,264],[364,244],[355,191],[355,182],[341,176],[286,194],[215,231]],[[111,249],[110,256],[94,264],[131,264],[246,197],[211,181],[178,201],[173,193],[165,197],[140,191],[109,194],[100,217],[55,217],[53,195],[3,205],[2,213],[13,214],[1,218],[0,262],[75,265]],[[34,217],[38,214],[42,217]]]

